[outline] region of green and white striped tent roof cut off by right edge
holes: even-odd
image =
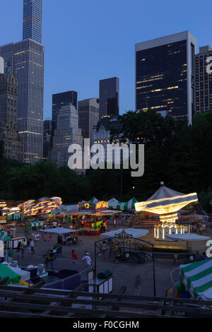
[[[212,300],[212,259],[180,265],[179,271],[194,299]]]

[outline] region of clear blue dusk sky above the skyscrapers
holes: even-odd
[[[22,40],[23,0],[1,1],[0,45]],[[99,80],[119,77],[119,109],[134,109],[134,45],[189,30],[212,46],[208,1],[43,0],[44,119],[52,93],[98,97]]]

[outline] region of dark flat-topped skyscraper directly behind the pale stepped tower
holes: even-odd
[[[57,114],[62,106],[73,105],[77,109],[76,91],[66,91],[65,93],[55,93],[52,95],[52,131],[57,128]]]

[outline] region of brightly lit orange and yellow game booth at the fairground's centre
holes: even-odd
[[[66,212],[68,218],[77,218],[81,220],[81,227],[78,230],[79,235],[98,235],[107,230],[107,216],[122,211],[108,210],[108,204],[105,201],[98,203],[80,202],[77,211]]]

